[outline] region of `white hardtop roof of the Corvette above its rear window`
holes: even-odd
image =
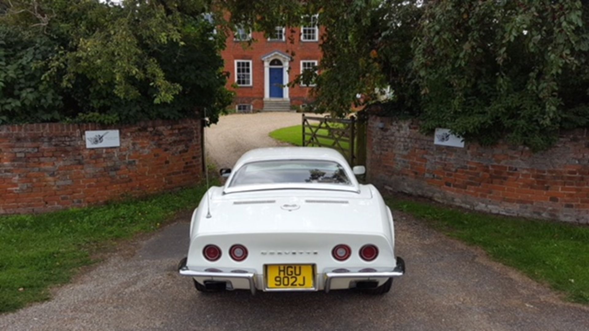
[[[270,147],[256,148],[243,154],[235,168],[255,161],[270,160],[329,160],[348,165],[348,161],[338,151],[325,147]]]

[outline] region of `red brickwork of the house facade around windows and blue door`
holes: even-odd
[[[320,29],[320,34],[322,29]],[[262,57],[273,51],[281,51],[289,54],[292,61],[289,62],[289,81],[293,81],[300,74],[300,61],[316,60],[319,63],[323,53],[319,47],[319,41],[301,41],[300,28],[286,28],[285,41],[268,41],[264,38],[263,32],[253,32],[252,38],[256,39],[252,45],[248,46],[247,42],[234,41],[233,34],[229,34],[226,41],[226,49],[221,52],[225,61],[225,71],[229,72],[227,88],[236,91],[235,103],[252,104],[254,110],[263,108],[264,99],[264,61]],[[235,60],[246,59],[252,60],[252,87],[234,88],[235,83]],[[290,87],[289,98],[291,104],[300,105],[310,101],[311,87]]]

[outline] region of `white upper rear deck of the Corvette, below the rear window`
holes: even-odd
[[[370,198],[371,187],[363,186],[362,191],[362,194],[340,191],[310,194],[305,190],[284,190],[280,194],[260,191],[223,196],[220,188],[211,188],[212,217],[206,221],[198,221],[196,217],[197,226],[192,235],[282,231],[388,232],[386,206],[379,206],[378,199]],[[204,208],[207,203],[204,202]]]

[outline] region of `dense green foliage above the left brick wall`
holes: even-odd
[[[43,85],[57,87],[62,104],[48,107],[52,116],[36,115],[31,107],[21,107],[20,117],[0,114],[14,123],[112,124],[177,120],[206,111],[216,122],[232,94],[225,88],[219,55],[223,31],[214,35],[214,24],[203,15],[210,2],[12,1],[0,23],[20,31],[15,40],[30,35],[51,45],[42,48],[38,69],[27,75],[27,84],[41,94],[47,94]],[[16,47],[31,48],[24,42]],[[13,62],[15,57],[5,65]]]

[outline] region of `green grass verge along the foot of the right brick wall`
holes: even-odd
[[[396,210],[482,247],[498,262],[589,304],[589,226],[470,213],[409,200],[389,199]]]

